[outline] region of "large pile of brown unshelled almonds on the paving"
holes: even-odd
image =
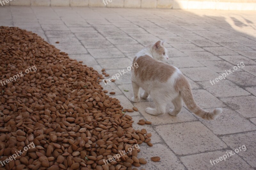
[[[33,65],[36,71],[0,84],[0,160],[32,142],[36,147],[0,170],[132,170],[147,162],[135,149],[103,163],[134,144],[148,143],[151,134],[132,128],[120,101],[103,92],[102,75],[35,33],[1,26],[0,80]]]

